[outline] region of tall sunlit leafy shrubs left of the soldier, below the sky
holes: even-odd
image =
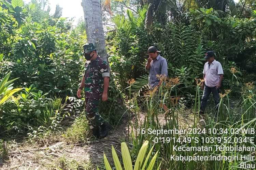
[[[20,77],[16,85],[34,84],[48,93],[47,97],[75,96],[85,34],[71,30],[65,18],[52,18],[36,1],[25,6],[19,0],[16,8],[24,12],[17,15],[14,4],[1,0],[0,6],[3,3],[6,9],[0,8],[0,78],[12,71],[12,77]]]

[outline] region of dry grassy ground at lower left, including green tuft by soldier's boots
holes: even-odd
[[[125,119],[124,119],[125,121]],[[120,150],[127,123],[100,140],[89,137],[87,120],[77,118],[65,131],[45,133],[40,138],[8,141],[9,159],[0,159],[0,169],[102,169],[103,152],[111,155],[111,146]],[[103,168],[104,169],[104,168]]]

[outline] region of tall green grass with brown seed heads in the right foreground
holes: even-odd
[[[175,85],[172,85],[168,89],[173,90],[172,93],[176,94],[175,92]],[[163,90],[164,91],[164,90]],[[144,103],[142,105],[146,106],[145,111],[145,117],[144,120],[141,121],[141,118],[139,118],[137,115],[141,113],[141,108],[143,108],[142,105],[139,105],[137,103],[137,100],[133,100],[133,113],[134,113],[134,121],[131,124],[132,131],[130,134],[130,139],[132,143],[132,151],[131,155],[138,155],[140,148],[143,145],[143,142],[148,140],[148,146],[149,148],[152,148],[154,145],[155,150],[152,152],[151,157],[154,156],[154,153],[156,151],[158,152],[158,157],[156,159],[156,164],[154,169],[157,169],[160,165],[161,161],[161,169],[239,169],[239,166],[242,162],[245,162],[245,160],[232,160],[232,161],[225,161],[225,160],[201,160],[201,161],[182,161],[182,160],[173,160],[173,155],[182,155],[182,156],[207,156],[208,158],[210,156],[216,156],[216,155],[225,155],[225,156],[241,156],[241,155],[252,155],[253,153],[250,151],[234,151],[234,152],[228,152],[228,151],[218,151],[213,149],[213,151],[175,151],[174,147],[180,147],[180,146],[187,146],[187,147],[214,147],[214,146],[223,146],[223,147],[230,147],[230,146],[240,146],[243,145],[246,147],[255,147],[255,134],[246,134],[242,133],[241,130],[247,129],[247,128],[256,128],[256,104],[254,99],[254,94],[252,94],[251,91],[248,90],[249,94],[251,96],[248,96],[247,93],[244,93],[244,96],[239,99],[236,105],[232,106],[232,109],[230,108],[230,103],[234,103],[229,98],[229,92],[228,90],[225,91],[225,94],[221,94],[220,103],[217,108],[216,117],[211,117],[208,115],[208,119],[206,119],[205,126],[200,126],[198,123],[199,120],[199,108],[200,108],[200,99],[201,99],[201,91],[199,88],[199,84],[197,85],[196,90],[196,97],[194,102],[193,111],[191,111],[191,114],[194,115],[194,122],[190,125],[191,128],[196,128],[203,130],[205,129],[206,133],[199,134],[191,133],[191,134],[185,134],[185,135],[179,135],[179,134],[169,134],[169,135],[160,135],[157,136],[155,134],[148,134],[148,133],[141,133],[143,130],[159,130],[159,129],[177,129],[181,130],[183,129],[182,126],[180,126],[180,112],[183,111],[181,108],[181,105],[178,102],[173,102],[171,100],[172,98],[176,98],[176,96],[171,96],[171,91],[167,90],[165,93],[162,93],[162,97],[160,101],[162,103],[166,103],[167,107],[170,108],[169,112],[163,111],[162,107],[159,107],[159,101],[154,100],[154,93],[149,93],[148,95],[142,96],[141,98],[144,98]],[[159,94],[161,91],[159,92]],[[245,96],[248,96],[247,98]],[[131,95],[129,95],[131,96]],[[138,98],[137,98],[138,99]],[[131,100],[132,101],[132,100]],[[165,122],[160,123],[159,117],[164,117]],[[142,122],[142,123],[139,123]],[[210,129],[224,129],[226,132],[222,133],[209,133]],[[233,129],[238,129],[238,134],[233,134]],[[232,134],[231,134],[232,133]],[[184,141],[184,142],[174,142],[173,140],[163,141],[163,138],[165,140],[168,138],[171,139],[178,139],[181,137],[181,139],[188,139],[190,138],[198,138],[199,142],[195,140],[191,141]],[[244,139],[243,142],[236,142],[236,138],[242,137]],[[248,142],[248,138],[254,137],[254,143]],[[214,139],[213,142],[205,142],[206,138]],[[233,143],[228,143],[224,139],[229,139]],[[219,139],[222,139],[219,141]],[[155,143],[156,142],[156,143]],[[134,156],[136,157],[136,156]],[[136,160],[136,158],[132,158],[132,160]],[[255,160],[248,161],[247,163],[255,164]]]

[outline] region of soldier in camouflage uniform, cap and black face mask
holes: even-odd
[[[90,129],[96,138],[108,135],[109,124],[99,115],[99,102],[108,100],[109,87],[109,67],[96,51],[92,43],[85,44],[84,56],[87,60],[85,64],[85,73],[81,85],[77,90],[77,97],[81,97],[81,90],[85,90],[85,110],[86,118],[89,121]]]

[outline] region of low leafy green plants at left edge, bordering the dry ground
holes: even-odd
[[[2,126],[10,133],[24,132],[32,127],[43,126],[56,129],[68,114],[67,105],[62,99],[47,98],[41,90],[36,91],[32,85],[25,88],[17,97],[6,103],[3,109]]]

